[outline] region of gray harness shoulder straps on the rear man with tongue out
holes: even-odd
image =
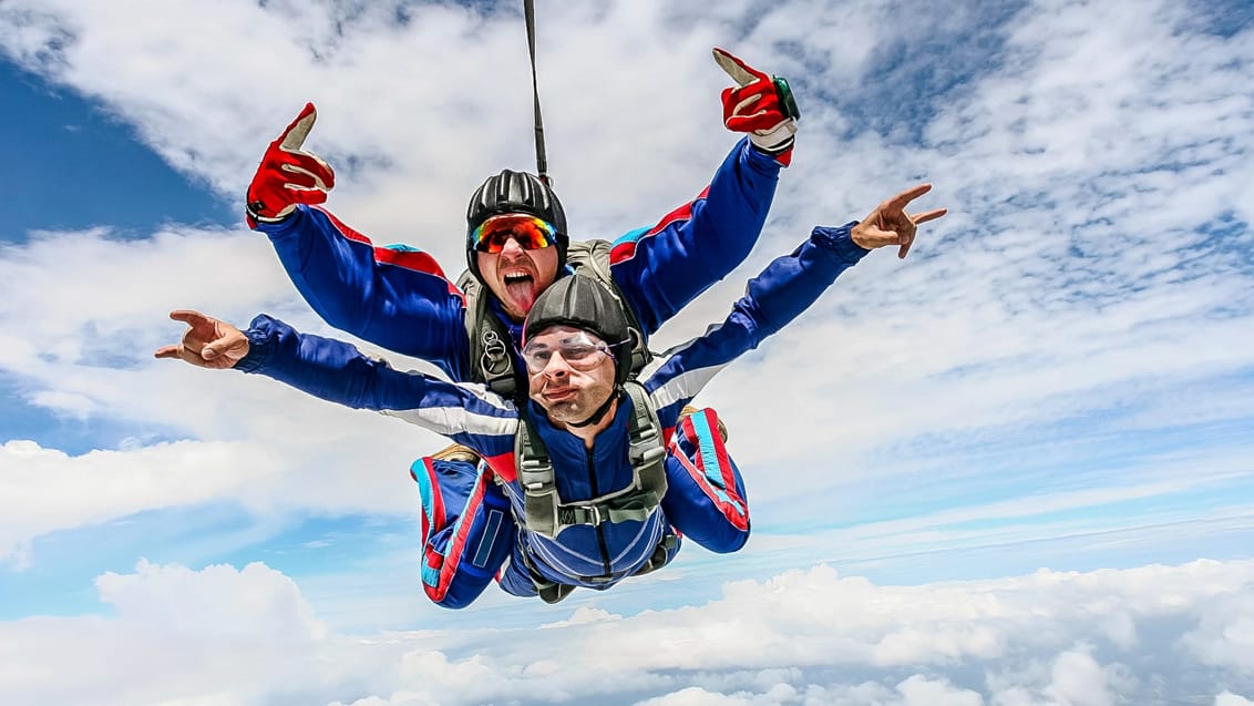
[[[608,241],[578,241],[567,248],[567,262],[576,272],[601,282],[627,313],[627,324],[632,335],[632,371],[638,372],[653,359],[648,344],[641,331],[636,312],[627,306],[627,300],[609,275]],[[475,382],[483,382],[503,398],[518,400],[518,377],[514,374],[514,356],[510,355],[513,341],[509,331],[497,316],[488,311],[490,295],[484,296],[483,283],[465,271],[458,278],[458,288],[466,297],[466,336],[470,339],[470,375]]]

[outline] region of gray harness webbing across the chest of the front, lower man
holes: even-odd
[[[527,529],[556,539],[563,529],[576,524],[598,525],[604,522],[643,522],[666,495],[666,448],[662,445],[662,425],[645,387],[635,380],[623,382],[631,396],[632,418],[628,423],[628,458],[632,466],[632,484],[607,495],[563,503],[557,493],[553,461],[544,441],[523,416],[514,436],[514,458],[518,463],[518,482],[523,487],[523,519]]]

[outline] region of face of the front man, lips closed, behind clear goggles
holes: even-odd
[[[549,326],[523,349],[528,394],[554,423],[584,421],[614,390],[614,359],[596,335]]]

